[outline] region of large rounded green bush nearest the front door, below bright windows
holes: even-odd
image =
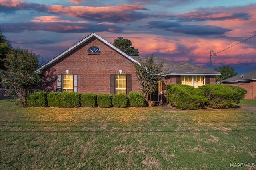
[[[200,110],[207,102],[202,90],[189,85],[169,84],[166,95],[171,106],[182,110]]]

